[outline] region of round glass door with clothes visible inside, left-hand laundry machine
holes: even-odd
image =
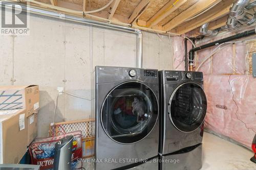
[[[126,82],[114,88],[101,109],[106,134],[119,143],[134,143],[147,136],[158,118],[158,102],[145,84]]]

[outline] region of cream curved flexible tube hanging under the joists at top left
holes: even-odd
[[[41,6],[44,6],[44,7],[48,7],[48,8],[51,8],[51,9],[55,9],[55,10],[60,10],[60,11],[64,11],[64,12],[84,15],[84,14],[90,14],[90,13],[95,13],[95,12],[102,11],[106,7],[110,6],[110,4],[113,3],[115,0],[110,0],[110,2],[108,4],[106,4],[105,6],[99,8],[99,9],[93,10],[93,11],[75,11],[75,10],[70,10],[70,9],[66,9],[66,8],[62,8],[62,7],[57,7],[57,6],[50,5],[50,4],[37,2],[37,1],[34,1],[34,0],[25,0],[25,1],[30,2],[30,3],[34,3],[34,4],[38,4],[38,5],[41,5]]]

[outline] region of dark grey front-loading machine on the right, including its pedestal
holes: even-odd
[[[159,80],[161,169],[200,169],[207,108],[203,74],[162,70]]]

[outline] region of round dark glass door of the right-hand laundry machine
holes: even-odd
[[[182,132],[199,128],[206,115],[207,101],[203,89],[196,83],[184,83],[173,92],[169,101],[169,117]]]

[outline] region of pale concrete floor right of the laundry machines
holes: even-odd
[[[250,161],[252,156],[249,150],[204,132],[201,170],[255,170],[256,164]]]

